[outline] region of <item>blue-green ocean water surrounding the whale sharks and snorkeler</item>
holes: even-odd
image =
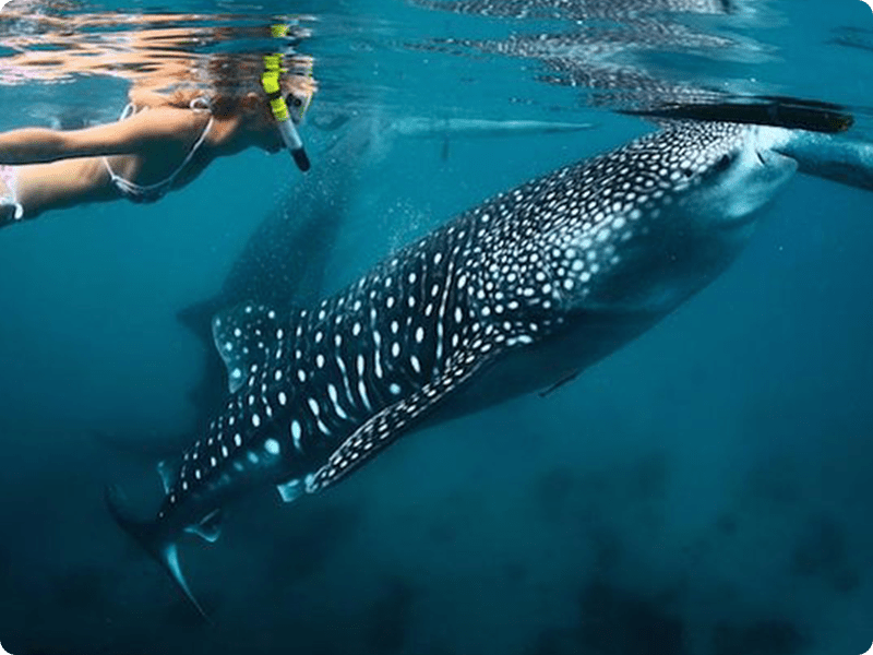
[[[858,115],[854,134],[871,136],[870,8],[743,5],[755,12],[682,24],[745,48],[723,59],[647,52],[647,70],[839,103]],[[299,247],[306,270],[319,270],[301,297],[339,288],[485,198],[653,129],[582,88],[545,83],[536,59],[446,47],[574,22],[399,0],[192,1],[174,12],[265,22],[292,12],[312,29],[299,46],[320,84],[304,128],[309,175],[342,170],[333,183],[345,200],[327,245]],[[107,75],[10,83],[0,129],[112,120],[125,92]],[[318,127],[344,112],[376,115],[354,167],[328,153],[360,123]],[[415,139],[397,129],[410,117],[594,128]],[[711,287],[573,383],[416,433],[323,496],[283,505],[272,489],[252,495],[228,512],[217,544],[186,541],[189,580],[214,620],[204,626],[112,523],[103,488],[121,481],[157,503],[155,452],[195,429],[190,392],[207,356],[177,313],[216,294],[277,205],[294,217],[314,193],[308,182],[285,155],[252,151],[157,205],[83,206],[0,231],[7,651],[870,648],[871,196],[803,176]]]

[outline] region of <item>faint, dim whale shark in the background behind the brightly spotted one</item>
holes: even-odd
[[[318,115],[315,116],[318,119]],[[190,398],[195,429],[205,427],[219,410],[226,385],[225,370],[213,349],[211,323],[220,310],[242,302],[286,307],[319,298],[325,285],[327,261],[360,189],[390,152],[397,138],[476,139],[545,135],[593,129],[586,122],[495,120],[482,118],[388,118],[376,111],[335,117],[336,135],[314,152],[316,169],[295,179],[258,224],[234,261],[218,290],[177,313],[177,319],[203,344],[206,358]],[[342,127],[340,127],[342,126]],[[156,434],[136,439],[98,434],[115,450],[166,453],[182,443]]]

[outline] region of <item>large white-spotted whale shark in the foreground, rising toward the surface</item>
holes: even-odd
[[[404,434],[572,379],[715,279],[798,170],[873,190],[873,144],[667,121],[463,213],[308,309],[223,311],[222,412],[159,466],[154,519],[117,487],[108,507],[202,612],[184,533],[214,541],[247,491],[294,501]]]

